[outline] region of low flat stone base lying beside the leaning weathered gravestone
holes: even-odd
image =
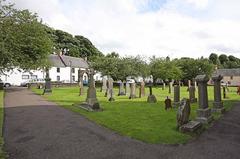
[[[199,121],[190,121],[187,124],[182,125],[179,128],[179,131],[187,133],[187,132],[196,132],[202,126],[201,122]]]

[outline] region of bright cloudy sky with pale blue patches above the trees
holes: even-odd
[[[240,0],[10,0],[104,54],[240,58]]]

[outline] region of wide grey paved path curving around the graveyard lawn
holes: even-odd
[[[10,159],[240,158],[240,104],[182,146],[120,136],[23,88],[7,90],[4,124]]]

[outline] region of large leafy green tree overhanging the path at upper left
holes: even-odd
[[[48,65],[52,42],[37,14],[16,10],[0,0],[0,71],[19,67],[24,70]]]

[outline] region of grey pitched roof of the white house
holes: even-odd
[[[71,57],[66,55],[49,55],[49,61],[55,67],[74,67],[74,68],[88,68],[88,63],[78,57]]]

